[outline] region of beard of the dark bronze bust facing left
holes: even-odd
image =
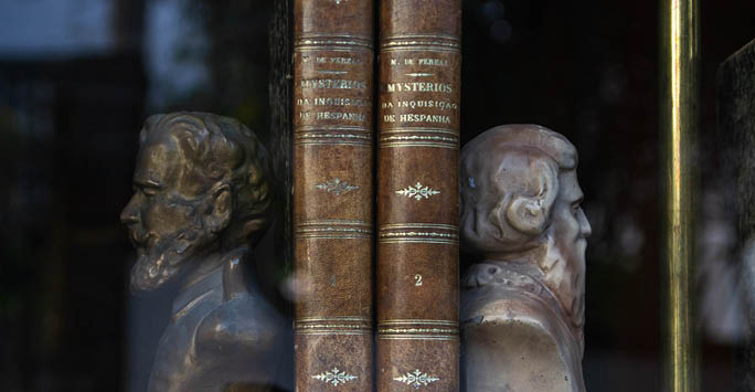
[[[174,278],[196,255],[203,240],[201,230],[190,227],[141,244],[131,269],[131,292],[151,292]]]

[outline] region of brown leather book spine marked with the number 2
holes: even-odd
[[[456,391],[461,1],[380,6],[378,391]]]

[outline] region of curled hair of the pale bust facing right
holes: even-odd
[[[577,152],[563,136],[536,125],[487,130],[461,150],[460,224],[469,252],[534,247],[551,222],[559,173]]]

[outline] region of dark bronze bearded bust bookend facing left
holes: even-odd
[[[182,279],[148,391],[267,390],[286,328],[248,274],[270,221],[263,146],[204,113],[151,116],[139,142],[120,215],[138,256],[131,290]]]

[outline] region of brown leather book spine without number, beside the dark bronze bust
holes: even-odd
[[[373,388],[373,9],[294,2],[297,391]]]

